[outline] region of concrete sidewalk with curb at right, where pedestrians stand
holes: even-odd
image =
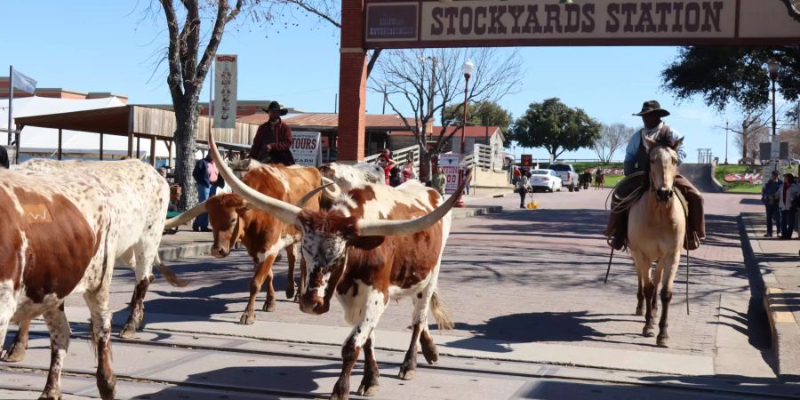
[[[742,250],[757,264],[764,282],[764,309],[778,372],[784,379],[800,379],[800,241],[764,237],[764,213],[743,212],[740,216]]]

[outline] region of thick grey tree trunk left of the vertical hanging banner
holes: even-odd
[[[180,206],[188,210],[197,204],[197,185],[192,177],[195,169],[195,140],[200,108],[196,96],[186,96],[175,109],[178,127],[175,129],[175,182],[183,188]]]

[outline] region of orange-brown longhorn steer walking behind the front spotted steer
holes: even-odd
[[[271,196],[289,203],[297,203],[303,195],[316,188],[321,177],[316,168],[251,162],[249,171],[244,174],[244,182],[263,195]],[[318,208],[319,195],[308,201],[308,208]],[[272,265],[278,252],[286,249],[289,272],[286,286],[286,298],[295,297],[294,266],[296,262],[295,244],[300,241],[300,230],[286,225],[267,212],[251,210],[244,199],[236,194],[212,196],[205,202],[204,210],[208,211],[214,243],[212,256],[225,258],[230,249],[241,242],[252,257],[254,263],[253,276],[250,281],[250,300],[244,309],[240,322],[252,324],[255,320],[256,296],[261,285],[267,280],[267,300],[264,311],[275,311],[275,289],[273,288]],[[306,277],[305,266],[300,260],[300,282]]]

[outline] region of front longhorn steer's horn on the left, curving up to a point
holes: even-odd
[[[217,143],[214,142],[213,132],[209,133],[208,147],[214,160],[214,164],[217,164],[217,168],[220,170],[222,178],[228,183],[228,185],[230,185],[230,188],[236,192],[237,195],[242,196],[244,200],[247,200],[247,203],[251,207],[268,212],[286,224],[295,224],[297,221],[297,215],[302,211],[300,207],[294,204],[285,203],[281,200],[276,200],[270,196],[266,196],[263,193],[260,193],[259,191],[247,186],[242,180],[239,180],[234,172],[228,168],[228,165],[222,161],[220,150],[217,149]]]

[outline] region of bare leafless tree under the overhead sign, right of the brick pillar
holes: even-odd
[[[522,60],[517,52],[497,49],[415,49],[387,51],[370,78],[373,92],[382,93],[388,105],[414,133],[420,148],[420,179],[429,180],[428,165],[444,144],[460,132],[460,125],[449,130],[447,106],[460,105],[463,112],[465,82],[462,66],[475,64],[469,79],[467,101],[498,101],[519,90]],[[467,120],[478,113],[468,108]],[[428,132],[429,124],[439,117],[443,130],[436,138]],[[432,149],[428,150],[428,143]]]

